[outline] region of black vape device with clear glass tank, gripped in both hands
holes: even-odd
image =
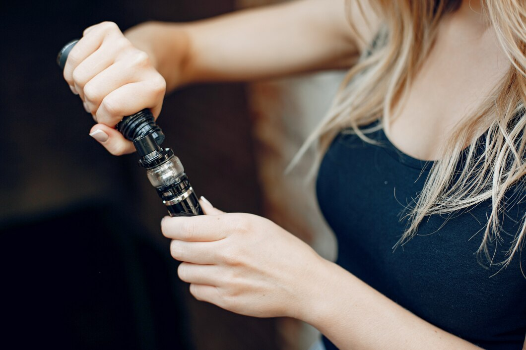
[[[64,69],[67,56],[77,42],[72,40],[58,53],[57,64],[60,68]],[[149,109],[124,117],[115,128],[133,142],[141,157],[139,166],[146,169],[148,179],[166,205],[170,217],[203,214],[183,164],[170,148],[160,147],[165,136]]]

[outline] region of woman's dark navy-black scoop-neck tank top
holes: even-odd
[[[477,260],[488,200],[447,221],[431,215],[414,238],[393,251],[406,228],[404,207],[417,198],[432,164],[400,152],[383,130],[369,137],[382,146],[340,133],[318,173],[320,208],[338,239],[337,263],[447,332],[487,349],[520,350],[526,334],[526,277],[520,269],[521,263],[526,274],[526,247],[501,271]],[[524,181],[508,197],[502,242],[489,246],[494,262],[505,259],[522,225]],[[336,348],[325,337],[323,343]]]

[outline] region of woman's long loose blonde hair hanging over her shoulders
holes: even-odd
[[[460,4],[452,0],[369,2],[386,19],[375,47],[369,46],[368,54],[349,70],[326,117],[291,164],[295,164],[315,141],[319,142],[320,150],[327,149],[343,128],[350,127],[358,136],[374,143],[367,137],[372,129],[362,130],[360,126],[380,119],[379,127],[389,128],[393,109],[403,102],[411,80],[429,53],[440,19]],[[497,244],[501,239],[499,217],[504,215],[504,207],[508,204],[504,201],[504,193],[518,186],[520,195],[526,174],[526,3],[522,0],[485,0],[483,3],[510,60],[510,69],[495,87],[494,98],[487,99],[476,111],[466,115],[454,129],[440,160],[433,162],[417,201],[406,208],[407,229],[393,249],[412,238],[428,215],[453,213],[491,199],[491,214],[478,253],[490,264],[505,267],[526,241],[524,215],[505,259],[493,262],[488,243]],[[358,33],[356,28],[353,30]],[[478,136],[484,130],[486,137],[481,141],[483,138]],[[460,160],[463,167],[459,171]]]

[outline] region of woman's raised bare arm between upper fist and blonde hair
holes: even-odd
[[[168,90],[349,66],[358,50],[343,0],[303,0],[198,22],[146,23],[126,32]]]

